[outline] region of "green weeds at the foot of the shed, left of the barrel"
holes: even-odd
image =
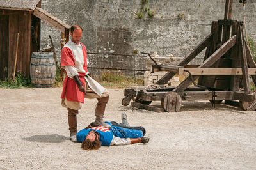
[[[15,79],[10,81],[0,81],[0,88],[21,88],[21,87],[34,87],[31,84],[30,77],[24,77],[24,73],[17,72],[15,74]]]

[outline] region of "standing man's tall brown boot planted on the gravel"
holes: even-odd
[[[76,134],[77,134],[77,120],[76,115],[78,114],[78,110],[68,108],[68,125],[70,131],[70,140],[76,142]]]

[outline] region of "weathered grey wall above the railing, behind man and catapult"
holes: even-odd
[[[83,27],[83,42],[89,52],[131,54],[157,52],[184,57],[209,35],[211,22],[223,19],[225,0],[150,0],[152,18],[136,19],[140,0],[42,0],[42,8],[67,22]],[[184,14],[184,16],[183,16]],[[234,0],[233,17],[243,19],[243,8]],[[256,1],[246,4],[246,29],[256,40]],[[60,48],[61,33],[42,23],[42,49],[49,46],[49,35]]]

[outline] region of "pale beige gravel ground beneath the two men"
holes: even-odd
[[[142,125],[150,142],[84,151],[68,137],[61,88],[0,89],[0,169],[256,169],[256,113],[225,104],[182,102],[180,112],[132,111],[111,93],[106,121]],[[86,99],[78,130],[94,120]]]

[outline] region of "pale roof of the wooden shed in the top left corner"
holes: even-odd
[[[40,0],[0,0],[0,8],[33,11]]]

